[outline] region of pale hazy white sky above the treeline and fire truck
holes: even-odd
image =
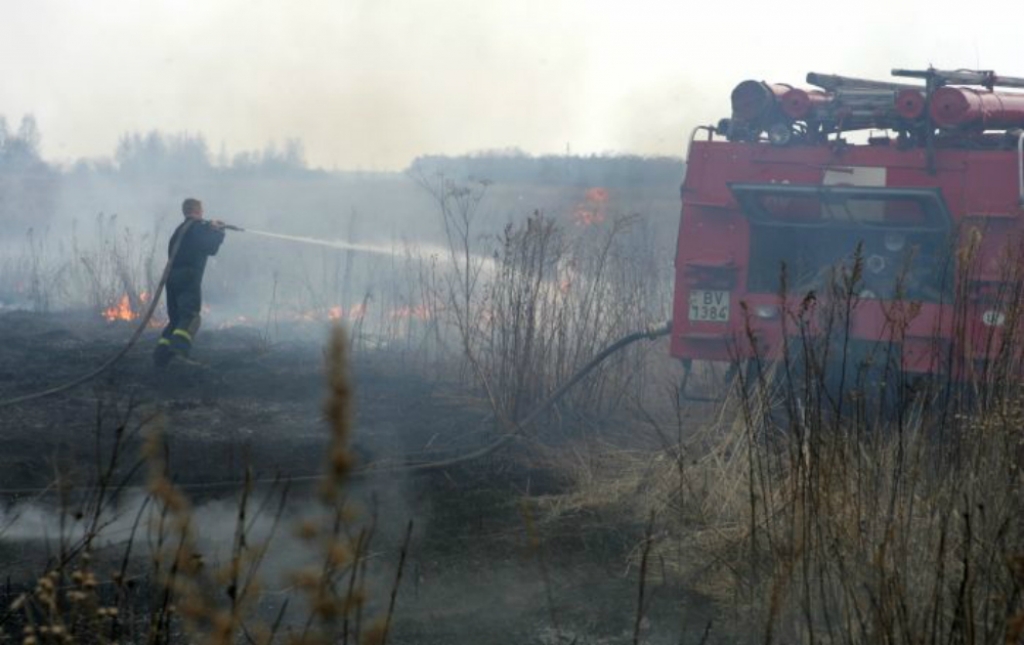
[[[974,9],[972,10],[972,7]],[[126,132],[313,166],[420,154],[681,155],[741,80],[894,67],[1024,76],[1014,0],[0,0],[0,115],[53,161]]]

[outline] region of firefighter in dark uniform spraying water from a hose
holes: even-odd
[[[200,326],[206,259],[217,255],[224,241],[224,223],[203,219],[203,203],[199,200],[185,200],[181,213],[185,220],[174,230],[167,247],[170,256],[177,246],[177,254],[167,277],[167,327],[153,353],[153,362],[160,369],[174,358],[195,364],[188,353]]]

